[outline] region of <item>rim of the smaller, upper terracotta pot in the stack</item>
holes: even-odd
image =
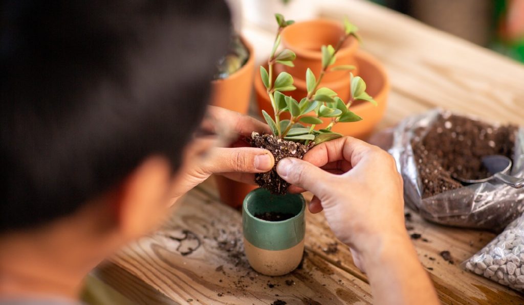
[[[313,19],[308,21],[301,21],[296,22],[295,24],[292,24],[289,27],[297,27],[304,24],[328,24],[332,26],[336,26],[337,28],[342,29],[342,26],[339,24],[339,22],[330,20],[330,19]],[[322,60],[322,52],[320,49],[318,51],[312,51],[307,49],[301,49],[301,48],[294,48],[292,44],[289,43],[289,41],[286,39],[286,30],[289,28],[286,27],[282,30],[281,33],[281,39],[282,39],[282,45],[290,50],[292,50],[295,54],[297,54],[297,57],[302,58],[308,58],[308,59],[314,59],[314,60]],[[335,46],[333,46],[335,47]],[[346,55],[348,53],[354,53],[358,49],[358,41],[354,37],[348,38],[342,48],[340,48],[339,52],[337,54]]]

